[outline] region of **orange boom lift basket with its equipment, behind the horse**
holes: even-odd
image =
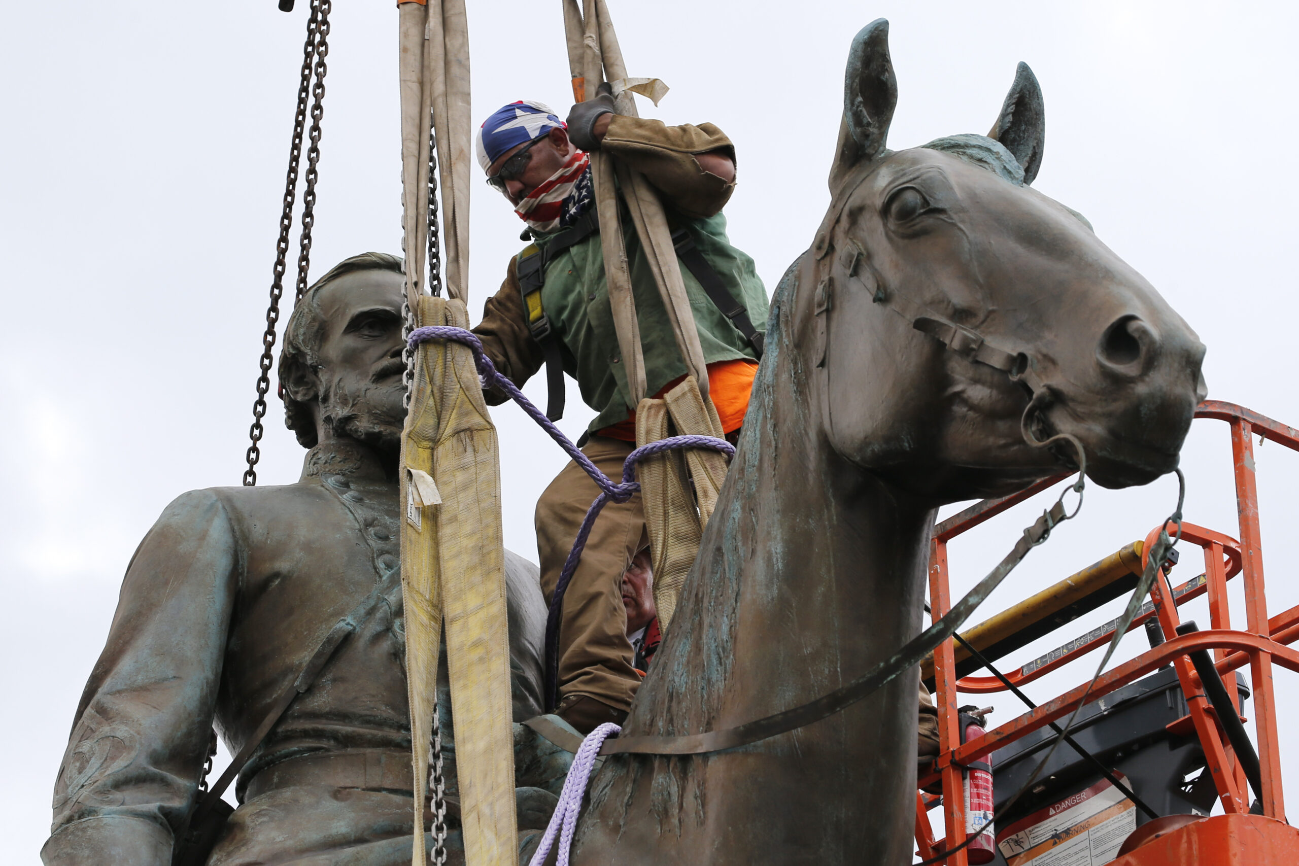
[[[1085,697],[1089,701],[1087,709],[1092,710],[1092,718],[1099,718],[1111,709],[1104,701],[1107,696],[1125,688],[1128,689],[1125,693],[1130,695],[1133,692],[1128,687],[1170,666],[1172,673],[1165,671],[1165,676],[1169,680],[1176,676],[1176,682],[1170,682],[1168,689],[1179,695],[1169,693],[1167,705],[1178,708],[1178,711],[1185,708],[1185,715],[1167,724],[1167,736],[1177,737],[1178,741],[1198,741],[1203,749],[1204,774],[1207,774],[1207,779],[1200,780],[1202,787],[1209,792],[1211,800],[1221,804],[1222,814],[1164,815],[1146,821],[1133,832],[1126,832],[1125,826],[1115,824],[1120,827],[1122,836],[1111,834],[1100,845],[1109,850],[1121,837],[1122,844],[1112,854],[1104,853],[1098,858],[1098,847],[1092,845],[1090,856],[1079,853],[1079,860],[1072,856],[1065,860],[1052,857],[1052,849],[1059,849],[1070,839],[1076,839],[1077,834],[1085,832],[1089,826],[1095,826],[1095,822],[1105,814],[1115,814],[1116,809],[1130,809],[1131,815],[1128,821],[1135,823],[1138,810],[1124,801],[1120,792],[1112,789],[1108,782],[1100,782],[1086,791],[1070,792],[1066,798],[1035,814],[1048,815],[1052,810],[1060,814],[1089,796],[1111,788],[1109,798],[1098,800],[1096,806],[1099,810],[1105,804],[1115,804],[1108,813],[1098,813],[1090,823],[1079,821],[1073,827],[1065,826],[1068,821],[1028,827],[1038,818],[1015,821],[1016,813],[1012,813],[1012,823],[1007,828],[996,827],[996,834],[1002,843],[1005,841],[1005,834],[1018,836],[1017,847],[1000,845],[995,852],[995,862],[1005,862],[1008,866],[1050,866],[1053,860],[1091,866],[1099,866],[1102,862],[1113,866],[1173,866],[1174,863],[1177,866],[1295,866],[1299,863],[1299,830],[1289,826],[1285,818],[1272,676],[1276,667],[1299,671],[1299,652],[1289,647],[1299,639],[1299,606],[1273,617],[1268,615],[1251,440],[1251,435],[1257,435],[1299,451],[1299,431],[1242,406],[1217,400],[1200,404],[1195,417],[1225,421],[1230,426],[1239,514],[1238,538],[1183,522],[1182,549],[1185,552],[1187,545],[1192,544],[1202,548],[1204,573],[1173,587],[1172,592],[1163,573],[1152,584],[1150,604],[1142,609],[1131,627],[1148,623],[1147,632],[1151,635],[1151,643],[1156,645],[1104,673],[1091,686],[1090,693],[1087,683],[1083,683],[965,743],[961,743],[960,737],[957,692],[991,693],[1008,691],[1009,686],[1018,687],[1033,682],[1108,644],[1113,635],[1113,623],[1108,630],[1102,627],[1089,632],[1024,667],[1002,674],[1002,678],[963,674],[974,673],[983,666],[983,661],[995,661],[1059,628],[1081,613],[1126,595],[1135,586],[1135,576],[1146,567],[1148,552],[1164,527],[1154,528],[1143,541],[1134,541],[1015,608],[961,632],[961,641],[948,640],[934,652],[933,663],[925,665],[922,678],[934,686],[942,750],[930,771],[926,774],[922,770],[920,787],[933,791],[940,783],[942,796],[929,796],[924,791],[917,793],[916,847],[921,858],[947,866],[990,862],[987,853],[974,852],[972,858],[972,849],[963,847],[966,843],[963,767],[968,767],[972,762],[987,761],[989,756],[998,750],[1005,750],[1003,754],[1013,753],[1016,744],[1028,748],[1034,739],[1050,743],[1053,735],[1044,728],[1053,722],[1064,724]],[[1044,479],[1004,499],[985,500],[934,527],[929,566],[934,618],[946,614],[951,606],[947,544],[957,535],[1047,489],[1063,478]],[[1172,525],[1168,531],[1173,532]],[[1237,575],[1244,584],[1243,630],[1231,627],[1228,608],[1228,580]],[[1204,631],[1198,631],[1194,623],[1182,623],[1178,617],[1179,605],[1200,596],[1208,596],[1209,628]],[[1235,671],[1246,666],[1250,669],[1248,683],[1255,701],[1252,722],[1256,752],[1242,726],[1247,719],[1239,715],[1242,693],[1247,695],[1250,689],[1244,687],[1243,679],[1238,680],[1239,675]],[[1209,682],[1205,686],[1200,673],[1218,682]],[[1221,683],[1224,676],[1228,680],[1225,687]],[[1115,696],[1111,704],[1116,700],[1122,700],[1122,696]],[[1220,708],[1230,706],[1230,715],[1234,718],[1224,722],[1215,704]],[[1082,737],[1079,731],[1087,722],[1086,713],[1087,710],[1079,713],[1082,724],[1072,731],[1079,739]],[[1025,737],[1029,740],[1025,741]],[[1069,753],[1072,760],[1070,747],[1061,743],[1059,752]],[[1115,758],[1115,756],[1104,757],[1109,761]],[[1037,761],[1029,763],[1035,765]],[[1212,789],[1208,788],[1209,782]],[[1087,782],[1078,784],[1086,786]],[[1044,786],[1035,787],[1034,792],[1042,787]],[[1139,786],[1133,784],[1133,788],[1139,793]],[[1008,795],[1013,791],[999,793]],[[929,810],[939,806],[943,809],[947,827],[944,839],[934,837],[929,822]],[[1024,830],[1025,827],[1028,828]],[[1017,832],[1021,830],[1022,832]],[[944,852],[951,853],[944,857]],[[1064,852],[1059,850],[1059,854]]]

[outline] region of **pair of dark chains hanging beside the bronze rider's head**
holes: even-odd
[[[297,165],[303,153],[303,136],[307,131],[307,103],[314,96],[310,108],[312,129],[308,151],[307,191],[303,195],[303,241],[297,258],[297,291],[301,297],[307,288],[307,270],[310,264],[310,230],[314,222],[316,204],[316,162],[320,160],[320,119],[323,113],[321,100],[325,96],[325,55],[329,53],[329,13],[331,0],[312,0],[310,16],[307,18],[307,42],[303,44],[303,69],[297,84],[297,112],[294,116],[294,135],[288,145],[288,174],[284,178],[284,206],[279,216],[279,239],[275,241],[275,265],[270,283],[270,304],[266,308],[266,331],[261,336],[260,373],[257,375],[257,399],[252,405],[252,426],[248,428],[248,445],[244,470],[244,487],[257,484],[257,461],[261,460],[261,438],[265,434],[261,419],[266,415],[266,393],[270,391],[270,369],[274,366],[275,325],[279,322],[279,299],[284,293],[284,270],[288,257],[288,235],[294,227],[294,200],[297,196]],[[312,79],[316,86],[312,87]]]

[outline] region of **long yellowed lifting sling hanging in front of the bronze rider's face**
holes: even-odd
[[[397,9],[407,303],[414,325],[469,327],[464,0]],[[425,293],[430,114],[442,157],[448,299]],[[413,365],[401,440],[401,595],[417,828],[412,865],[426,862],[423,806],[444,625],[465,858],[470,866],[513,866],[518,832],[496,428],[468,347],[423,343]]]

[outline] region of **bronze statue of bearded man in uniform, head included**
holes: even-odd
[[[184,493],[140,543],[58,770],[45,863],[171,863],[216,732],[238,754],[290,692],[239,774],[242,805],[207,862],[409,862],[403,280],[401,260],[356,256],[294,310],[279,382],[288,427],[310,449],[299,482]],[[521,722],[540,713],[546,604],[535,566],[507,552],[505,571]],[[297,693],[308,660],[344,618],[355,630]],[[462,862],[444,673],[440,682],[448,848]],[[518,826],[544,827],[568,760],[516,730]]]

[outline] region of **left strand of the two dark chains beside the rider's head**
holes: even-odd
[[[307,100],[312,87],[312,64],[316,60],[317,34],[321,23],[321,3],[313,0],[310,16],[307,18],[307,42],[303,44],[303,70],[297,84],[297,113],[294,116],[294,136],[288,145],[288,174],[284,178],[284,206],[279,216],[279,239],[275,241],[275,266],[270,283],[270,305],[266,308],[266,331],[261,336],[260,373],[257,375],[257,399],[252,405],[252,427],[248,428],[248,445],[244,470],[244,487],[257,484],[257,461],[261,460],[259,443],[265,432],[261,419],[266,415],[266,393],[270,391],[270,369],[274,366],[275,325],[279,322],[279,299],[284,293],[284,269],[288,257],[288,235],[294,229],[294,200],[297,196],[297,164],[303,153],[303,134],[307,130]],[[326,14],[327,10],[326,10]],[[327,23],[327,21],[326,21]]]

